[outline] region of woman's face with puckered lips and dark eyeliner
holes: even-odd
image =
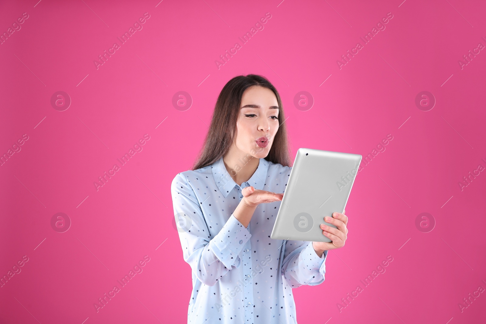
[[[243,92],[236,121],[234,145],[244,153],[264,158],[278,131],[278,101],[272,90],[251,86]]]

